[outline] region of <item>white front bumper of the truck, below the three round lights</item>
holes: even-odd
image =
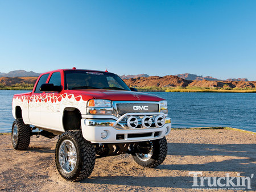
[[[114,127],[115,120],[81,119],[82,136],[92,143],[131,143],[160,139],[171,131],[170,118],[162,127],[123,129]],[[108,135],[103,139],[101,133]]]

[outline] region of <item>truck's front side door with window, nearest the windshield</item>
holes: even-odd
[[[61,85],[61,73],[54,72],[49,78],[48,84],[54,86]],[[62,113],[60,110],[60,97],[59,92],[47,92],[43,94],[43,102],[41,107],[41,122],[42,126],[51,130],[63,131],[62,128]]]

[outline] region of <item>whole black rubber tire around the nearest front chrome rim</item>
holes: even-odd
[[[72,141],[76,149],[76,165],[70,173],[61,168],[59,161],[59,149],[64,140]],[[61,177],[67,181],[80,181],[89,177],[93,171],[96,160],[94,145],[82,137],[81,130],[66,131],[60,135],[55,148],[55,162]]]

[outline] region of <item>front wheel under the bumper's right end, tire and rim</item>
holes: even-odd
[[[167,156],[166,137],[158,140],[141,142],[135,145],[134,148],[134,161],[146,168],[154,168],[162,164]]]

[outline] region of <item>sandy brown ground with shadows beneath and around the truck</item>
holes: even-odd
[[[250,177],[256,190],[256,134],[233,130],[172,130],[162,165],[148,169],[130,155],[98,158],[89,178],[65,181],[55,166],[55,139],[32,137],[27,151],[15,151],[0,135],[0,189],[4,191],[172,191],[194,190],[189,172],[204,177]],[[207,183],[205,185],[207,187]]]

